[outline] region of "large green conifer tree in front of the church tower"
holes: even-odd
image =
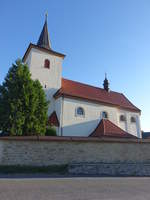
[[[0,86],[0,129],[10,135],[44,135],[48,102],[28,66],[16,61]]]

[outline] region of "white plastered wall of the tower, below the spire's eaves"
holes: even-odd
[[[44,68],[45,59],[50,61],[50,69]],[[40,81],[47,99],[50,101],[49,115],[55,110],[53,95],[61,87],[62,61],[62,57],[51,55],[34,48],[30,50],[25,60],[25,63],[29,66],[32,78]]]

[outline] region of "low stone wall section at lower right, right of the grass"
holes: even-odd
[[[150,176],[150,164],[145,163],[72,163],[72,175]]]

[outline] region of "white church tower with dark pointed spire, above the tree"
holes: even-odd
[[[48,100],[61,88],[62,61],[65,55],[52,50],[49,39],[47,15],[37,44],[30,43],[24,54],[32,78],[38,79],[46,92]]]

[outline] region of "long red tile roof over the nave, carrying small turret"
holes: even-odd
[[[54,95],[55,98],[60,96],[104,103],[135,112],[140,112],[140,110],[121,93],[113,91],[107,92],[102,88],[67,80],[64,78],[62,79],[62,87]]]

